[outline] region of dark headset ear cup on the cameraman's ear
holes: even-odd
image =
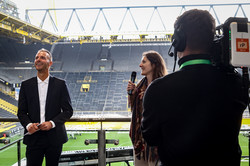
[[[172,45],[176,49],[176,51],[182,52],[185,50],[185,48],[186,48],[186,35],[182,30],[177,29],[174,31],[172,41],[173,41]]]

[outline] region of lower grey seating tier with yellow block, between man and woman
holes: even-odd
[[[62,73],[52,72],[52,75],[60,77]],[[76,112],[116,111],[126,114],[126,87],[130,75],[130,72],[68,72],[64,79]]]

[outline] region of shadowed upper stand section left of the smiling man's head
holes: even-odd
[[[14,39],[0,37],[0,78],[10,83],[20,83],[35,75],[34,55],[39,49],[50,50],[50,47],[41,43],[25,45]]]

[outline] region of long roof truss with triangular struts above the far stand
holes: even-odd
[[[222,10],[228,7],[229,13]],[[67,42],[171,42],[173,23],[186,10],[208,10],[220,25],[229,17],[247,17],[249,7],[250,3],[233,3],[27,9],[25,19]]]

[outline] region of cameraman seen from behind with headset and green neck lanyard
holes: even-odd
[[[164,166],[239,166],[238,135],[248,96],[237,73],[211,63],[215,20],[189,10],[174,24],[180,70],[144,96],[142,133]]]

